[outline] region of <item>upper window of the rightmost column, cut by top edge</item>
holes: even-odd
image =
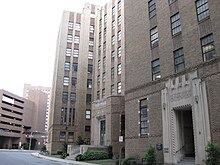
[[[196,10],[197,10],[197,17],[199,21],[209,17],[208,0],[197,0]]]

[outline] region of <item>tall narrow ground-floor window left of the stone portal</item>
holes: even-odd
[[[140,133],[141,135],[149,134],[147,99],[140,100]]]

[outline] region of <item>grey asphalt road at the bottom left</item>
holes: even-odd
[[[31,155],[32,152],[0,150],[0,165],[67,165],[34,157]]]

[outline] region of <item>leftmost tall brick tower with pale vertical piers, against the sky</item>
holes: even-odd
[[[78,137],[90,143],[95,14],[86,3],[82,13],[64,11],[57,39],[51,92],[48,150]]]

